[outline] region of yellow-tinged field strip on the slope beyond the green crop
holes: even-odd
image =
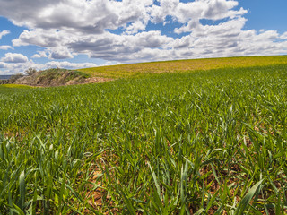
[[[220,68],[239,68],[287,64],[287,56],[247,56],[178,60],[142,64],[120,64],[80,69],[92,76],[105,78],[133,77],[143,73],[178,73]]]

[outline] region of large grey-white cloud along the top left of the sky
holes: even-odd
[[[30,29],[57,29],[99,34],[128,22],[146,20],[152,0],[1,0],[0,14]]]

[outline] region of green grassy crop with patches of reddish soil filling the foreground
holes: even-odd
[[[0,214],[286,214],[287,57],[271,58],[0,86]]]

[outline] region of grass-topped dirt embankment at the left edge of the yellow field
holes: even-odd
[[[111,79],[91,77],[87,73],[59,68],[38,71],[25,76],[20,75],[19,77],[12,77],[12,82],[15,84],[25,84],[30,86],[42,87],[108,81],[111,81]]]

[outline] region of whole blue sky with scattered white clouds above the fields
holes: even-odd
[[[287,54],[286,0],[0,0],[0,75]]]

